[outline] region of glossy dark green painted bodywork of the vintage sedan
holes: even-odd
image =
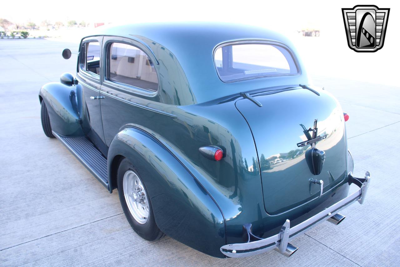
[[[276,234],[286,219],[296,225],[348,193],[345,176],[352,170],[346,164],[340,105],[325,91],[318,90],[317,96],[298,86],[308,84],[308,77],[293,45],[280,34],[229,24],[147,24],[105,28],[88,39],[100,36],[104,38],[98,80],[86,77],[78,66],[78,85],[50,83],[42,87],[40,97],[49,103],[53,130],[64,136],[90,137],[90,123],[100,119],[104,144],[98,146],[106,148],[100,150],[108,158],[110,191],[116,186],[118,160],[129,158],[144,179],[158,227],[169,236],[224,257],[219,247],[242,242],[245,223],[252,223],[255,235],[267,237]],[[300,75],[222,82],[213,51],[235,40],[286,44],[298,61]],[[159,80],[156,94],[106,81],[105,55],[113,41],[139,47],[158,63],[154,66]],[[240,92],[259,95],[264,106],[243,99]],[[86,108],[93,93],[104,96],[97,100],[98,113]],[[312,105],[318,107],[315,113]],[[331,189],[321,198],[316,197],[316,188],[305,196],[308,179],[314,177],[306,174],[304,154],[292,159],[291,163],[299,162],[291,172],[275,169],[289,160],[268,170],[264,164],[264,158],[286,154],[304,141],[300,124],[311,127],[314,119],[323,127],[334,123],[335,128],[320,142],[321,149],[329,152],[320,176],[326,190]],[[282,130],[290,133],[288,139],[281,137]],[[222,148],[220,162],[199,153],[198,148],[208,145]],[[301,177],[291,176],[296,170],[301,170]],[[328,170],[334,177],[332,183],[326,176]]]

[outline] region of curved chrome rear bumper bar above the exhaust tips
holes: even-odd
[[[332,206],[315,214],[314,216],[308,218],[307,220],[304,220],[302,223],[299,223],[298,225],[290,228],[289,238],[284,241],[288,242],[294,239],[294,237],[296,237],[297,235],[300,235],[305,231],[308,231],[312,227],[315,227],[319,223],[324,222],[324,220],[327,220],[328,218],[334,216],[342,208],[346,207],[349,204],[354,203],[356,200],[358,200],[358,202],[362,204],[364,202],[366,191],[371,181],[370,172],[366,172],[365,178],[366,180],[364,181],[364,183],[362,184],[362,186],[358,191],[354,192],[350,196],[347,196],[346,198],[343,198],[342,200],[336,202]],[[232,258],[248,257],[248,256],[258,255],[275,248],[279,248],[281,241],[282,241],[282,235],[281,233],[278,233],[276,235],[258,241],[224,245],[220,248],[220,251],[224,255]]]

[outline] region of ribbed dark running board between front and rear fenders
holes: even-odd
[[[52,131],[53,135],[108,189],[107,159],[86,137],[66,137]]]

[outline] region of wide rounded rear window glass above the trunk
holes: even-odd
[[[226,44],[216,49],[214,62],[224,82],[298,74],[289,51],[274,44]]]

